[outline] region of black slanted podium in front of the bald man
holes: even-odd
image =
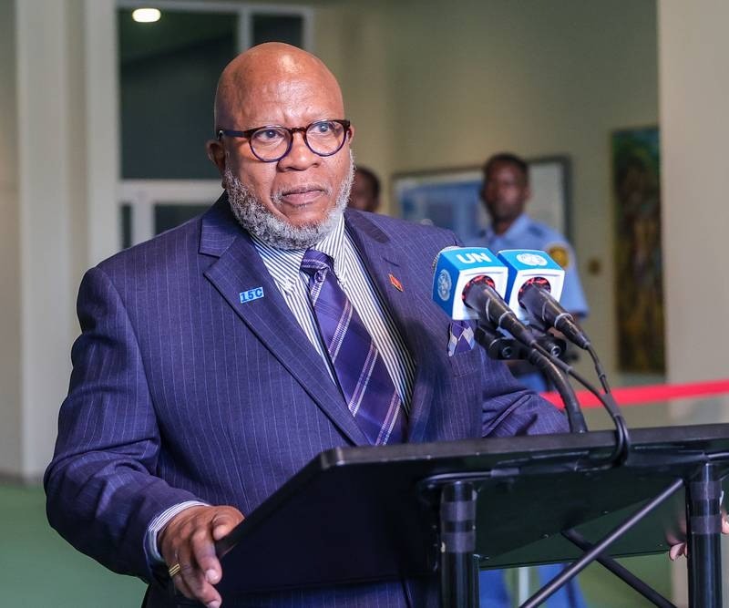
[[[671,605],[611,558],[687,541],[690,605],[720,608],[729,424],[636,428],[631,442],[621,466],[611,431],[327,450],[219,542],[223,602],[439,577],[442,605],[463,608],[477,605],[477,562],[576,561],[559,586],[597,559]]]

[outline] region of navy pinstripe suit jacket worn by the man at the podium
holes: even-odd
[[[450,232],[358,211],[345,220],[416,360],[409,441],[566,430],[480,348],[447,356],[450,321],[430,292]],[[264,297],[241,304],[256,287]],[[225,196],[88,271],[77,312],[47,513],[111,570],[154,580],[145,533],[171,505],[249,513],[322,450],[366,444]],[[433,589],[389,582],[225,605],[423,606]],[[148,605],[173,604],[153,587]]]

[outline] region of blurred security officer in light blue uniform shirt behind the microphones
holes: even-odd
[[[484,183],[481,200],[491,218],[491,225],[479,235],[471,246],[488,247],[492,252],[504,249],[539,249],[548,252],[555,262],[565,270],[564,286],[560,304],[576,319],[588,314],[585,294],[577,273],[575,254],[570,243],[556,230],[546,224],[535,222],[524,211],[531,191],[529,190],[529,167],[518,156],[500,153],[492,156],[484,165]],[[514,376],[529,388],[536,391],[547,390],[547,382],[541,374],[527,362],[509,361]],[[553,564],[539,566],[542,584],[556,576],[562,566]],[[499,571],[484,571],[480,575],[481,605],[511,605],[504,578]],[[584,599],[575,579],[552,595],[547,601],[548,608],[583,608]]]

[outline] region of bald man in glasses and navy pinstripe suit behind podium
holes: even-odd
[[[430,301],[431,263],[451,233],[344,211],[344,116],[318,58],[278,43],[236,57],[208,143],[221,199],[81,284],[48,518],[80,551],[153,583],[147,606],[174,605],[158,584],[171,577],[217,608],[213,585],[227,573],[214,541],[324,449],[566,430]],[[348,319],[339,342],[335,309]],[[359,400],[352,377],[364,378]],[[436,603],[428,580],[226,606]]]

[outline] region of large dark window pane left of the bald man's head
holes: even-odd
[[[123,179],[218,179],[205,142],[237,27],[234,13],[163,11],[139,24],[118,11]]]

